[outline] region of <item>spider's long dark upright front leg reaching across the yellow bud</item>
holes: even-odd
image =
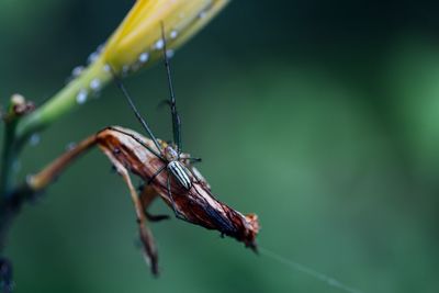
[[[173,93],[172,78],[171,78],[171,66],[169,64],[169,58],[168,58],[167,48],[166,48],[164,22],[160,22],[160,25],[161,25],[161,40],[164,42],[164,59],[165,59],[166,75],[168,77],[169,105],[171,108],[171,114],[172,114],[173,144],[177,146],[177,153],[180,156],[180,154],[181,154],[181,121],[180,121],[180,116],[177,112],[176,94]]]

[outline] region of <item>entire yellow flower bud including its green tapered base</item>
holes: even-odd
[[[24,116],[16,126],[16,136],[24,140],[87,102],[116,74],[127,74],[162,59],[161,24],[166,45],[173,50],[201,30],[229,0],[137,0],[92,63],[75,70],[75,78],[45,104]]]

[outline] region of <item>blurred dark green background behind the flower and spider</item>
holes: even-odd
[[[134,1],[0,2],[0,97],[42,103]],[[172,59],[184,149],[217,198],[260,217],[261,247],[362,292],[438,292],[439,4],[233,1]],[[126,80],[171,137],[165,70]],[[114,86],[27,147],[38,170],[106,125],[140,129]],[[156,202],[154,212],[171,211]],[[161,277],[136,243],[131,199],[93,150],[22,211],[5,255],[16,292],[341,292],[176,219],[153,227]]]

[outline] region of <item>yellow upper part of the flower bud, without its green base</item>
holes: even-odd
[[[102,58],[126,74],[162,58],[188,41],[215,16],[229,0],[137,0],[125,20],[108,41]]]

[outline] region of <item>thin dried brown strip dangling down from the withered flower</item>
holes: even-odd
[[[149,228],[146,226],[146,217],[144,213],[144,209],[140,202],[140,199],[137,194],[136,189],[131,181],[128,170],[112,156],[112,151],[108,148],[102,148],[105,155],[110,158],[113,165],[116,167],[117,173],[122,176],[122,179],[125,181],[126,185],[130,189],[130,194],[134,203],[134,209],[136,211],[136,218],[138,224],[138,232],[140,236],[140,240],[144,248],[144,256],[147,262],[150,263],[151,271],[155,275],[158,274],[158,255],[157,248],[154,241],[154,237]]]

